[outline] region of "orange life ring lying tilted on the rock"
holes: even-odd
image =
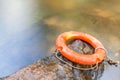
[[[79,54],[68,48],[66,42],[70,39],[80,39],[95,48],[94,54]],[[93,65],[102,62],[106,57],[104,46],[96,38],[82,32],[64,32],[56,39],[56,47],[59,52],[70,61],[83,65]]]

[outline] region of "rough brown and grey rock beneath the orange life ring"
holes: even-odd
[[[73,41],[72,45],[68,46],[74,51],[80,53],[88,54],[93,52],[93,48],[91,46],[80,40]],[[74,66],[81,66],[64,57],[62,58]],[[55,54],[53,54],[19,70],[13,75],[6,77],[4,80],[99,80],[103,71],[103,63],[99,64],[98,70],[83,71],[74,69],[59,61],[55,57]]]

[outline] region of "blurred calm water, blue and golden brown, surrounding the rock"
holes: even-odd
[[[99,39],[120,61],[119,0],[1,0],[0,77],[55,50],[56,37],[81,31]],[[120,67],[106,65],[101,80],[119,80]]]

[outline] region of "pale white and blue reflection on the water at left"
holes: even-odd
[[[32,1],[0,2],[0,77],[3,77],[44,56],[47,42],[44,25],[31,25]]]

